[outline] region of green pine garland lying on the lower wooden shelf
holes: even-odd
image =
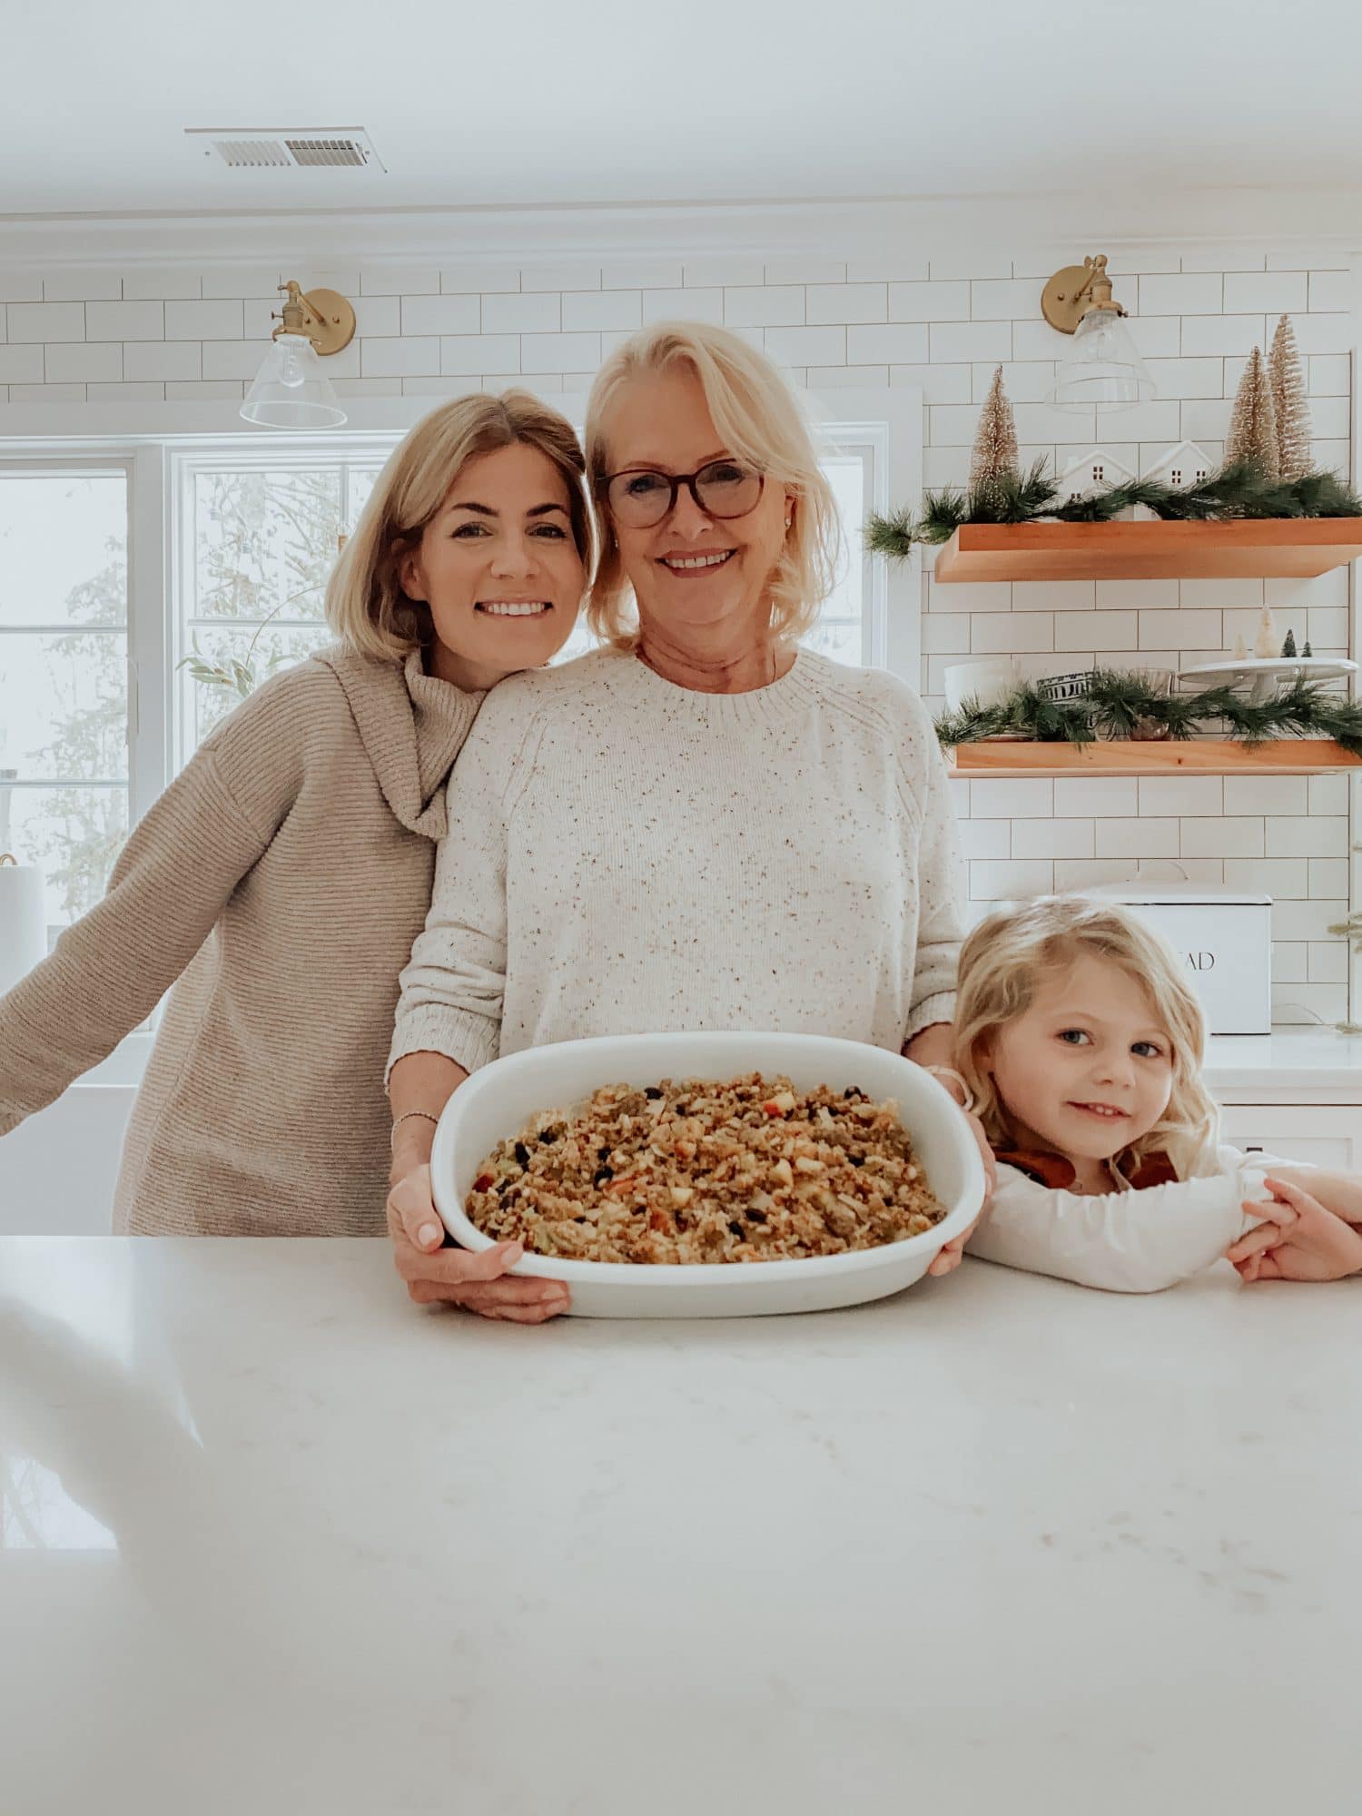
[[[1099,668],[1082,699],[1048,699],[1026,681],[1006,699],[981,706],[966,701],[937,719],[943,745],[982,737],[1021,737],[1037,745],[1090,745],[1110,737],[1197,737],[1219,734],[1242,745],[1273,737],[1331,737],[1362,757],[1362,701],[1329,694],[1318,681],[1297,679],[1275,699],[1249,701],[1229,686],[1199,694],[1157,694],[1140,674]]]

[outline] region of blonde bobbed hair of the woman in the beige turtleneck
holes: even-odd
[[[430,608],[403,592],[401,559],[421,541],[463,467],[518,441],[538,449],[561,472],[572,541],[590,572],[596,532],[583,485],[587,463],[572,423],[528,390],[454,398],[423,416],[392,450],[331,572],[327,623],[341,643],[374,661],[400,663],[430,641]]]

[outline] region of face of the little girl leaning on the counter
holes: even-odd
[[[993,1073],[1022,1146],[1108,1160],[1155,1126],[1173,1090],[1173,1042],[1140,984],[1090,952],[1046,979],[992,1037]]]

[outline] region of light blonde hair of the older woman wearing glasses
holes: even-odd
[[[770,576],[770,625],[779,639],[797,643],[817,623],[819,607],[837,579],[841,525],[832,487],[814,450],[794,392],[748,341],[728,329],[701,321],[661,321],[630,336],[596,374],[587,401],[587,479],[599,499],[612,472],[607,418],[621,389],[634,378],[670,372],[696,374],[714,427],[730,454],[757,467],[797,498],[794,525]],[[637,641],[625,565],[610,512],[601,508],[601,559],[596,568],[587,623],[605,643],[630,648]]]

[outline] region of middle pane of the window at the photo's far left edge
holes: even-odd
[[[127,632],[0,632],[0,768],[20,781],[127,775]]]

